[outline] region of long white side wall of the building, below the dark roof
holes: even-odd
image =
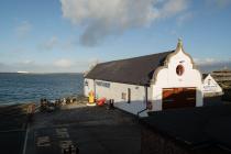
[[[85,96],[87,97],[90,90],[94,89],[94,80],[92,79],[85,79],[85,81],[88,81],[88,86],[85,85]],[[103,80],[95,80],[97,81],[103,81]],[[107,98],[114,100],[114,107],[125,110],[128,112],[131,112],[133,114],[138,114],[139,111],[146,108],[145,102],[145,87],[144,86],[136,86],[136,85],[129,85],[129,84],[120,84],[120,82],[111,82],[111,81],[105,81],[110,82],[110,88],[99,86],[96,84],[96,97],[97,98]],[[131,89],[131,102],[128,103],[128,88]],[[151,98],[151,88],[147,87],[150,100]],[[127,94],[127,99],[122,99],[122,92]],[[140,114],[141,117],[147,116],[146,111],[142,112]]]

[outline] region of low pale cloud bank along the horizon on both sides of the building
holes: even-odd
[[[194,58],[195,64],[202,73],[218,70],[222,68],[231,69],[231,57],[226,59],[218,58]],[[97,58],[72,61],[68,58],[56,59],[51,63],[37,63],[32,59],[24,59],[19,63],[0,63],[1,72],[30,72],[30,73],[81,73],[99,62]]]

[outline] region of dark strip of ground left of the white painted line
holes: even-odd
[[[0,107],[0,153],[21,154],[26,129],[28,105]]]

